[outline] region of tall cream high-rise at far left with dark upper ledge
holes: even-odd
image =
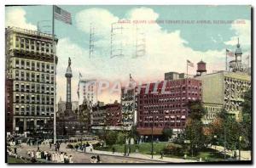
[[[12,119],[14,133],[53,131],[53,49],[56,42],[55,38],[53,43],[52,35],[39,31],[17,27],[5,29],[6,85],[9,87],[6,95],[12,96],[7,110],[13,113],[7,115],[7,120]]]

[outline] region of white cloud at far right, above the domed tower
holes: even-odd
[[[235,20],[230,30],[235,32],[235,36],[232,36],[229,41],[224,42],[226,45],[235,46],[239,37],[241,46],[245,48],[251,46],[251,20]]]

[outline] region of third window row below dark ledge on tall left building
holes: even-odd
[[[54,86],[39,83],[23,83],[15,82],[14,91],[16,92],[38,92],[46,94],[54,94]]]

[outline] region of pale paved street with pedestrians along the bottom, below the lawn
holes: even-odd
[[[160,159],[160,155],[154,155],[154,160],[151,159],[149,154],[130,154],[130,156],[124,157],[121,153],[112,154],[112,152],[93,150],[92,153],[84,153],[81,151],[75,151],[74,149],[66,148],[67,144],[61,143],[61,152],[66,152],[67,154],[72,154],[75,163],[90,163],[90,157],[92,155],[100,155],[102,163],[181,163],[181,162],[195,162],[195,160],[183,160],[175,158]],[[27,157],[28,150],[37,150],[37,146],[28,146],[23,143],[21,148],[18,148],[18,154]],[[55,152],[55,148],[49,149],[49,145],[41,145],[40,150]]]

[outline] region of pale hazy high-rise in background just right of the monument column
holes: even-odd
[[[79,105],[83,104],[84,98],[91,104],[97,103],[97,81],[96,80],[79,80]]]

